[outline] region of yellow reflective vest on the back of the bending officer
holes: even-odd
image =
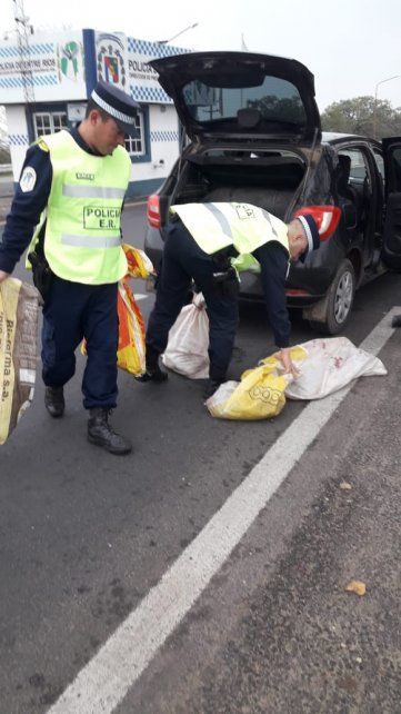
[[[270,240],[289,252],[287,225],[263,208],[251,204],[179,204],[171,206],[198,246],[208,255],[234,246],[247,255]]]

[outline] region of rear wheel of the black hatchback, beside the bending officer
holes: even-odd
[[[322,321],[310,320],[313,329],[325,335],[338,335],[345,327],[355,295],[355,271],[351,260],[340,264],[335,277],[324,298],[325,309]]]

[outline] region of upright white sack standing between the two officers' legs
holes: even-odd
[[[169,369],[190,379],[209,377],[209,318],[203,295],[198,292],[191,305],[186,305],[169,333],[162,357]]]

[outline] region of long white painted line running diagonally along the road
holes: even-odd
[[[392,308],[361,344],[378,355],[394,333]],[[183,551],[48,714],[111,713],[241,541],[268,500],[352,388],[311,401],[203,530]]]

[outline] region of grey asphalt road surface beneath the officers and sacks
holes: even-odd
[[[127,240],[141,246],[143,227],[144,207],[129,207]],[[146,317],[151,305],[140,301]],[[359,345],[393,306],[400,278],[388,274],[359,291],[345,335]],[[294,315],[293,341],[314,336]],[[83,358],[62,420],[47,415],[38,378],[0,447],[0,714],[401,712],[401,330],[389,337],[388,376],[354,384],[196,597],[177,564],[201,542],[192,565],[205,573],[255,494],[229,512],[221,543],[205,539],[211,519],[294,427],[297,440],[308,405],[214,420],[201,384],[121,373],[113,423],[136,448],[118,458],[86,440]],[[230,376],[272,350],[263,309],[242,306]],[[352,578],[363,597],[344,592]]]

